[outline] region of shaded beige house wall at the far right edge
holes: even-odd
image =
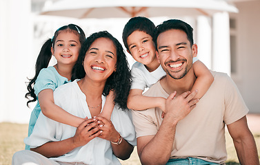
[[[250,113],[260,113],[260,1],[235,3],[238,14],[230,14],[237,25],[237,73],[231,74]]]

